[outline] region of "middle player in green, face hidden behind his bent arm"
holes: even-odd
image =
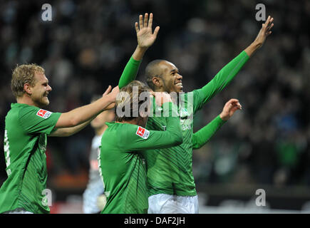
[[[169,148],[182,143],[180,118],[177,117],[177,108],[167,93],[162,94],[162,101],[156,95],[160,107],[169,105],[169,108],[164,108],[164,115],[160,117],[167,123],[166,131],[145,129],[150,108],[144,111],[142,107],[150,99],[144,101],[140,98],[143,93],[150,94],[149,91],[139,81],[123,87],[120,94],[126,93],[128,96],[116,101],[116,121],[107,123],[108,129],[103,133],[99,157],[107,197],[103,214],[147,213],[148,188],[142,151]],[[129,115],[118,114],[118,110],[124,107],[130,109]],[[137,117],[134,117],[134,113],[138,114]]]

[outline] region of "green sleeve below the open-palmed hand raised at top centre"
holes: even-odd
[[[120,76],[120,81],[118,82],[118,87],[120,89],[135,80],[140,63],[141,61],[136,61],[133,56],[130,57],[130,60],[126,64],[125,69],[122,73],[122,76]]]

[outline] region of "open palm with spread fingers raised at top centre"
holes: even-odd
[[[160,30],[160,27],[157,26],[152,32],[152,24],[153,24],[153,14],[150,13],[150,19],[148,20],[148,13],[144,16],[139,16],[139,25],[138,22],[135,22],[135,31],[137,32],[138,46],[140,48],[149,48],[153,45],[156,40],[157,33]]]

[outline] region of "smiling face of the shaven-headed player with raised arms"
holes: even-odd
[[[162,68],[162,86],[167,93],[180,93],[183,90],[182,76],[177,67],[168,61],[160,63]]]

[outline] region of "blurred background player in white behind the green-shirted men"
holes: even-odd
[[[95,96],[92,102],[98,100]],[[95,136],[91,142],[89,180],[85,192],[83,193],[83,212],[85,214],[98,214],[105,205],[105,195],[103,182],[99,175],[98,156],[100,155],[101,137],[108,125],[105,122],[111,122],[115,118],[113,109],[105,110],[91,121],[91,127],[95,130]]]

